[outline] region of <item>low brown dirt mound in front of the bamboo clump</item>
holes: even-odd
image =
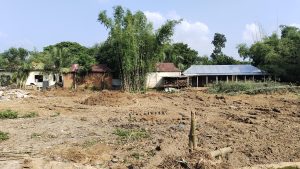
[[[84,99],[80,103],[85,105],[100,105],[107,107],[126,106],[136,103],[136,100],[132,95],[133,94],[122,92],[103,91]]]

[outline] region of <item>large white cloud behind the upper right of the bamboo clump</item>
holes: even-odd
[[[159,12],[145,11],[144,14],[150,22],[153,23],[155,29],[159,28],[167,19],[181,19],[175,11],[171,11],[166,15]],[[183,42],[188,44],[192,49],[199,52],[200,55],[209,55],[212,52],[211,36],[208,26],[200,21],[190,22],[183,18],[183,21],[176,26],[173,36],[174,42]]]

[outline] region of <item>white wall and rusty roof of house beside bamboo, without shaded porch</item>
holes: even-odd
[[[181,71],[173,63],[158,63],[156,71],[147,75],[147,88],[163,87],[164,78],[180,76]]]

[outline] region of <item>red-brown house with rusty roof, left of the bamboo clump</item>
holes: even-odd
[[[70,71],[63,74],[64,88],[91,88],[96,90],[111,89],[111,69],[106,65],[93,65],[86,74],[80,74],[78,64],[73,64]]]

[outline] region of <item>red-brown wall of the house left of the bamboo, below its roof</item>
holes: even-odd
[[[64,88],[73,87],[73,76],[72,73],[64,74]],[[112,76],[110,73],[89,73],[84,77],[77,76],[76,84],[78,88],[111,89]]]

